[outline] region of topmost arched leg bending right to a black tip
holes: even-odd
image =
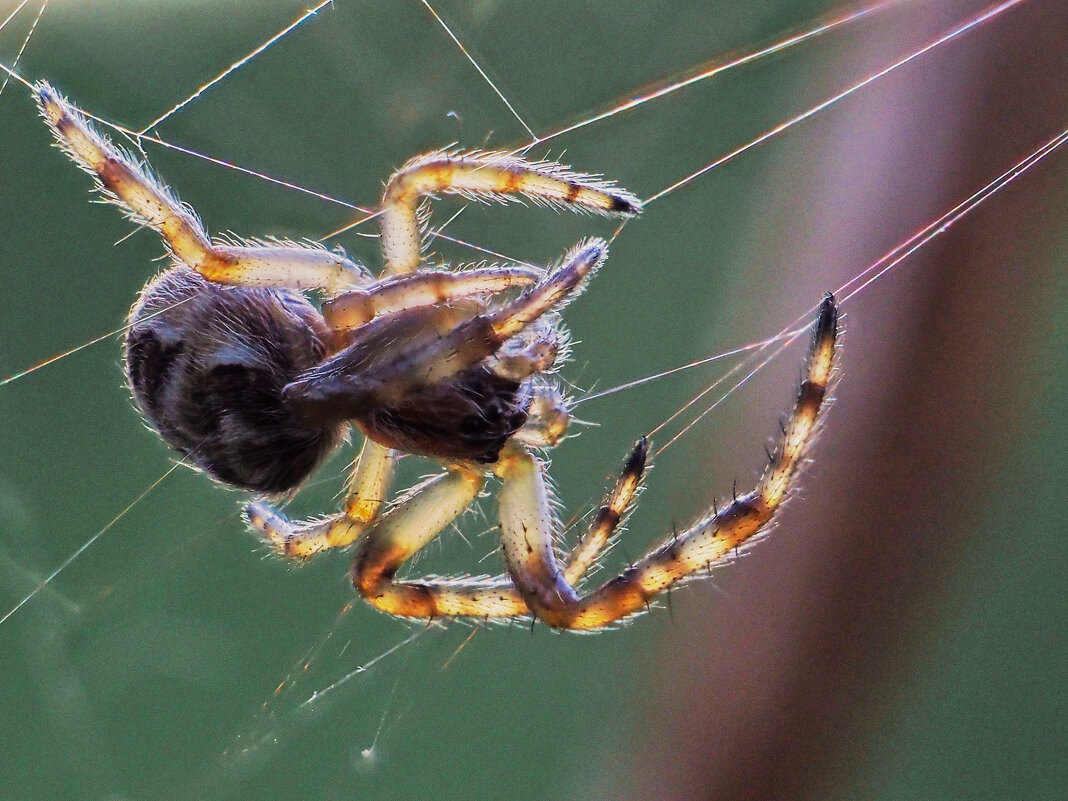
[[[409,272],[422,260],[424,198],[438,193],[472,200],[525,197],[549,206],[633,217],[641,201],[594,175],[572,172],[552,161],[527,161],[505,153],[439,151],[412,159],[390,178],[382,195],[380,229],[386,272]]]

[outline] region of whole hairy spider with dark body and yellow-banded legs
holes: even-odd
[[[604,262],[591,238],[547,270],[423,266],[426,203],[525,198],[550,207],[640,214],[609,180],[502,153],[439,151],[386,185],[378,216],[386,269],[374,278],[340,251],[276,239],[211,239],[147,166],[97,132],[49,84],[41,113],[96,189],[157,231],[171,266],[141,290],[125,341],[127,382],[152,427],[216,481],[251,491],[248,523],[279,553],[303,559],[356,545],[356,590],[390,614],[415,618],[531,617],[590,630],[647,609],[673,584],[754,541],[788,494],[827,405],[837,309],[819,307],[797,402],[756,488],[713,505],[600,587],[587,570],[614,539],[642,483],[648,443],[634,445],[585,535],[565,556],[538,449],[568,425],[552,378],[567,350],[564,305]],[[326,296],[316,308],[305,290]],[[341,512],[290,521],[267,502],[294,492],[356,426],[364,436]],[[444,471],[384,514],[394,464],[410,453]],[[506,575],[398,579],[404,563],[483,491],[498,492]]]

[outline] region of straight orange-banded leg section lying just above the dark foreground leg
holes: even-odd
[[[323,316],[332,329],[348,330],[405,309],[494,295],[514,286],[530,286],[541,277],[541,272],[529,267],[413,272],[342,293],[323,303]]]

